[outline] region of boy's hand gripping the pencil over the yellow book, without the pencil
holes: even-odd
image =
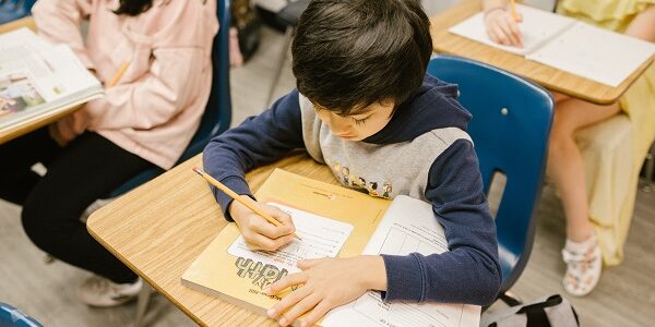
[[[237,226],[239,226],[243,240],[246,240],[252,250],[275,251],[294,240],[296,227],[294,227],[294,221],[291,221],[291,217],[287,213],[274,206],[260,204],[247,195],[241,196],[246,201],[254,203],[262,211],[282,222],[282,226],[277,227],[238,201],[233,201],[228,209],[229,215],[237,222]]]

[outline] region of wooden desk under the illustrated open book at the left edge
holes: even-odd
[[[0,25],[0,34],[10,32],[13,29],[17,29],[21,27],[28,27],[32,31],[36,31],[36,25],[32,17],[24,17],[17,21],[13,21],[3,25]],[[62,117],[71,114],[72,112],[79,110],[82,106],[70,106],[63,110],[55,110],[52,112],[46,114],[39,114],[35,118],[21,121],[15,124],[11,124],[0,129],[0,144],[9,142],[13,138],[16,138],[23,134],[29,133],[36,129],[45,126],[49,123],[52,123],[59,120]]]

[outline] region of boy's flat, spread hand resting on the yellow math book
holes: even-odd
[[[285,276],[266,290],[276,294],[303,284],[266,313],[281,326],[293,324],[306,313],[301,326],[313,326],[330,310],[356,300],[369,289],[386,290],[384,261],[377,255],[305,259],[298,261],[298,268],[302,271]]]

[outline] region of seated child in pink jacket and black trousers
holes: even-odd
[[[80,216],[144,169],[170,168],[188,145],[210,94],[216,1],[40,0],[33,15],[39,35],[70,46],[106,95],[1,145],[0,198],[23,206],[25,232],[38,247],[96,274],[80,287],[82,301],[118,305],[142,282],[88,234]],[[47,167],[44,177],[32,171],[36,162]]]

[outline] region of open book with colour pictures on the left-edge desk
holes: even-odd
[[[69,47],[25,27],[0,35],[0,129],[102,95],[100,83]]]

